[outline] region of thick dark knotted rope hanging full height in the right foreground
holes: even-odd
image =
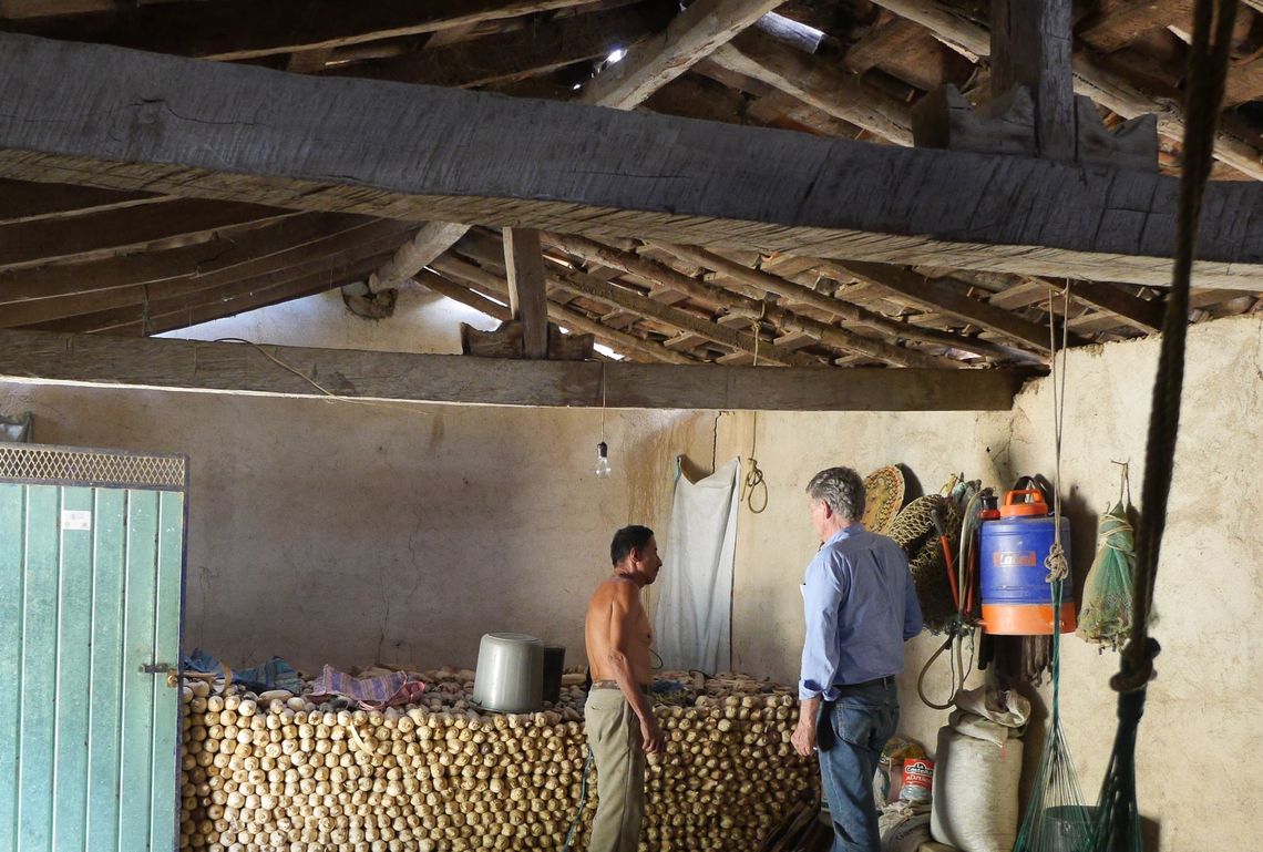
[[[1175,468],[1183,389],[1185,342],[1188,326],[1188,288],[1201,217],[1201,199],[1210,178],[1211,155],[1224,100],[1228,56],[1236,20],[1236,0],[1197,0],[1186,87],[1185,169],[1180,178],[1180,217],[1176,227],[1176,261],[1162,318],[1158,372],[1153,382],[1144,482],[1140,488],[1140,524],[1137,535],[1137,583],[1133,598],[1132,637],[1123,650],[1119,673],[1110,679],[1116,689],[1118,732],[1105,780],[1096,800],[1092,852],[1139,852],[1140,820],[1135,795],[1135,740],[1144,713],[1147,685],[1153,678],[1158,644],[1149,637],[1149,613],[1157,581],[1167,499]]]

